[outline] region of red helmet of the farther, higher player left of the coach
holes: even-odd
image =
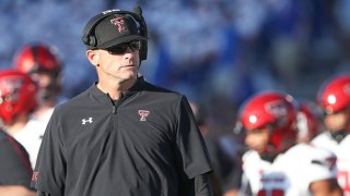
[[[24,46],[14,59],[14,66],[24,73],[47,72],[56,75],[61,65],[56,53],[44,44]]]

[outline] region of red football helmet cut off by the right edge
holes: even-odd
[[[350,75],[339,75],[327,81],[318,93],[318,103],[327,113],[350,107]]]

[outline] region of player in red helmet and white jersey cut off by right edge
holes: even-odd
[[[318,103],[325,111],[327,128],[312,144],[334,151],[338,158],[338,182],[350,195],[350,75],[335,76],[318,91]]]

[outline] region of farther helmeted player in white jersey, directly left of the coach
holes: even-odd
[[[45,133],[46,125],[60,100],[62,62],[52,47],[43,42],[28,44],[22,47],[14,57],[13,66],[28,74],[38,86],[37,107],[31,115],[27,134],[31,135],[31,147],[24,145],[31,155],[34,167],[38,148]],[[21,143],[23,144],[23,142]]]

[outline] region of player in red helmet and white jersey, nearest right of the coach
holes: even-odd
[[[243,156],[242,189],[253,195],[341,195],[336,156],[295,145],[296,108],[290,95],[264,91],[243,105],[238,123],[249,148]],[[323,183],[323,189],[317,186]]]

